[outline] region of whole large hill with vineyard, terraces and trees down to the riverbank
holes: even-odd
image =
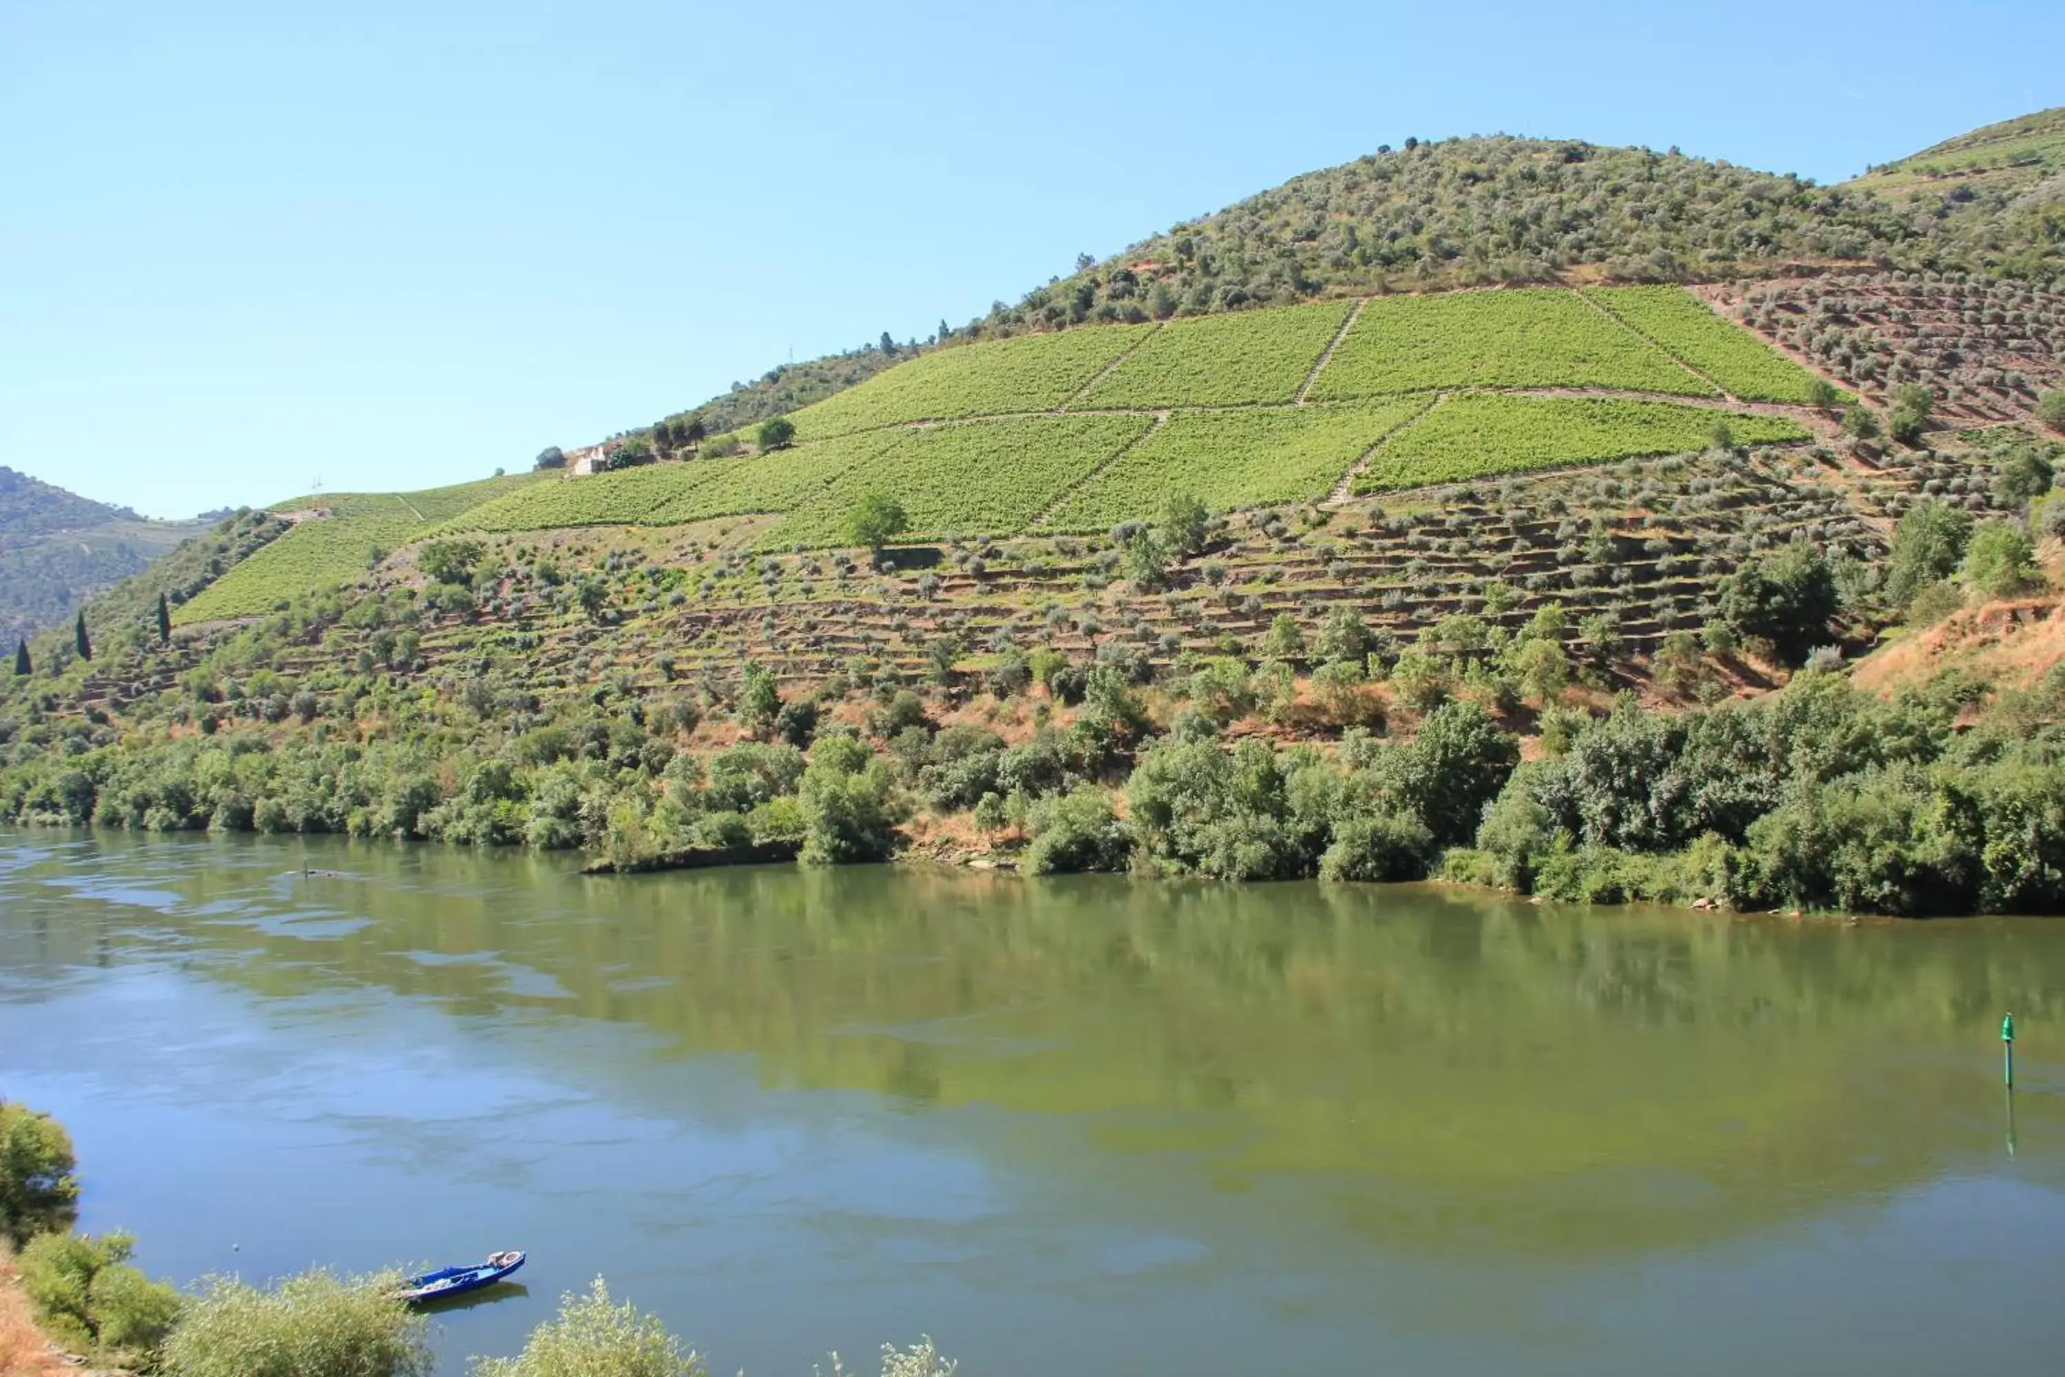
[[[1943,871],[1984,822],[1828,869],[1842,820],[1951,818],[1943,772],[2065,809],[2048,681],[1989,716],[1840,673],[2065,531],[2065,293],[2007,270],[2051,250],[1927,266],[1943,206],[1530,140],[1313,173],[605,473],[242,512],[95,601],[91,663],[45,636],[0,681],[0,818],[2065,902]]]

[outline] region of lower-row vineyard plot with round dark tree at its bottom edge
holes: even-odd
[[[770,547],[845,545],[869,493],[896,498],[915,535],[1020,531],[1068,487],[1148,431],[1130,415],[1016,417],[900,431],[766,537]]]

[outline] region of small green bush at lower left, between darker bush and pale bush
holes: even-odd
[[[21,1251],[21,1286],[68,1348],[155,1373],[180,1319],[180,1292],[128,1266],[128,1235],[39,1235]]]

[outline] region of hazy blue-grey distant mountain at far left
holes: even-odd
[[[0,640],[58,626],[202,529],[147,520],[0,467]]]

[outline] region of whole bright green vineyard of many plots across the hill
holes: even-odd
[[[797,411],[772,454],[527,485],[442,531],[768,516],[760,549],[832,547],[869,493],[909,541],[1097,531],[1177,489],[1229,508],[1689,452],[1716,425],[1807,440],[1815,382],[1675,287],[1084,326],[925,353]]]

